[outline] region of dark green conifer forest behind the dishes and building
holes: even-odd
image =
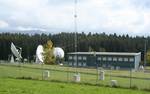
[[[33,60],[36,48],[39,44],[45,44],[51,40],[54,47],[61,47],[65,54],[75,51],[75,33],[61,32],[57,34],[22,34],[0,33],[0,60],[8,60],[12,54],[10,44],[22,48],[23,58]],[[142,60],[144,52],[150,48],[150,37],[117,35],[105,33],[77,33],[77,51],[100,52],[141,52]]]

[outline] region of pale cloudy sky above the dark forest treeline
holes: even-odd
[[[150,35],[150,0],[77,0],[77,31]],[[74,0],[0,0],[0,32],[74,32]]]

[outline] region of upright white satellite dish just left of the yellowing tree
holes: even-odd
[[[43,46],[39,45],[36,50],[36,63],[43,63]]]

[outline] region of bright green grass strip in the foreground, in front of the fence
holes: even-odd
[[[0,94],[149,94],[146,91],[0,78]]]

